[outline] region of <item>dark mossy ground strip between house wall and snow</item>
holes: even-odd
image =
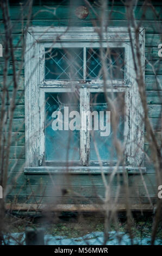
[[[67,238],[77,238],[90,234],[92,232],[104,231],[104,217],[97,215],[78,215],[73,213],[64,213],[56,215],[31,215],[22,217],[21,214],[7,215],[5,233],[24,232],[26,226],[43,227],[45,234],[52,236],[66,236]],[[21,217],[20,217],[21,216]],[[47,221],[48,220],[48,221]],[[132,220],[132,232],[134,237],[140,239],[151,237],[152,233],[152,214],[138,214]],[[116,224],[111,223],[109,231],[121,231],[128,234],[126,215],[119,214]],[[157,239],[162,241],[162,221],[159,223]]]

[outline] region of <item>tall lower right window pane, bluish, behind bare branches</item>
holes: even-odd
[[[108,96],[111,97],[111,95]],[[113,93],[112,96],[114,99],[111,97],[111,100],[113,100],[113,104],[117,113],[117,138],[123,141],[124,93]],[[109,111],[111,116],[111,109],[107,103],[107,100],[105,99],[104,93],[91,93],[90,102],[91,113],[96,111],[98,115],[98,130],[94,129],[95,117],[92,115],[92,131],[90,132],[90,160],[99,161],[96,154],[95,144],[99,153],[99,157],[102,161],[116,160],[117,155],[113,144],[114,132],[111,126],[111,118],[109,118]],[[101,112],[104,113],[104,118]]]

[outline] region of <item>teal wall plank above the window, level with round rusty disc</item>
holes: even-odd
[[[49,9],[51,8],[51,9]],[[101,8],[98,8],[97,6],[94,7],[95,8],[95,12],[97,13],[97,15],[101,15]],[[66,19],[70,19],[71,17],[76,17],[75,15],[75,10],[76,8],[72,8],[72,7],[64,7],[64,5],[48,5],[48,7],[46,7],[46,5],[44,6],[33,6],[32,8],[32,17],[34,17],[34,19],[64,19],[64,17],[66,17]],[[160,14],[160,7],[156,7],[156,11],[157,14]],[[20,6],[11,6],[10,8],[10,15],[11,15],[11,19],[12,20],[19,20],[21,21],[21,7]],[[23,9],[23,16],[24,16],[24,20],[27,19],[27,14],[28,14],[28,10],[27,8]],[[114,5],[113,8],[109,8],[107,10],[107,15],[110,16],[110,19],[116,19],[116,20],[123,20],[126,19],[126,8],[124,6],[118,6],[118,5]],[[144,15],[144,16],[143,16]],[[154,14],[154,11],[152,10],[151,7],[147,6],[142,8],[137,6],[135,9],[135,18],[136,19],[143,19],[143,20],[156,20],[159,19],[159,15],[158,17]],[[0,12],[0,19],[2,20],[2,11]],[[94,11],[89,8],[89,15],[88,17],[86,17],[86,20],[90,20],[90,19],[97,19],[97,16],[95,15]]]

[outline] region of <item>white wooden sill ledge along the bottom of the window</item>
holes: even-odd
[[[102,167],[103,173],[112,173],[115,166]],[[146,167],[125,167],[129,174],[146,173]],[[42,166],[25,167],[25,174],[48,174],[48,173],[68,173],[68,174],[101,174],[101,167],[83,166],[83,167],[61,167],[61,166]],[[123,173],[123,167],[119,167],[116,173]]]

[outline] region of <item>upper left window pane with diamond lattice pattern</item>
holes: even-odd
[[[45,48],[45,80],[83,80],[83,48]]]

